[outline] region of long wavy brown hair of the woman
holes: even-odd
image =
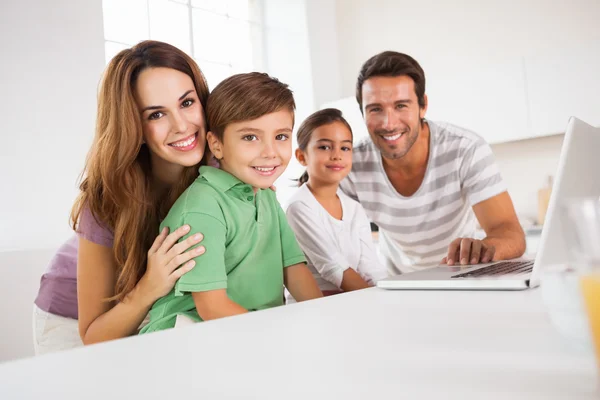
[[[206,110],[208,85],[194,60],[167,43],[144,41],[121,51],[109,63],[98,94],[96,134],[83,171],[80,194],[71,211],[77,224],[84,207],[114,233],[117,281],[111,300],[123,298],[146,271],[147,251],[160,221],[198,175],[187,167],[167,192],[152,184],[150,154],[143,144],[142,120],[135,102],[137,78],[146,68],[172,68],[188,75]]]

